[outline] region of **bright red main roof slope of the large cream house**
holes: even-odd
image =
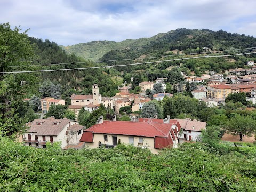
[[[167,137],[171,127],[172,124],[169,123],[109,121],[93,125],[89,129],[84,130],[84,132],[141,137]]]

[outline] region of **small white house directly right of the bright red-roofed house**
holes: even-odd
[[[181,127],[182,134],[179,134],[179,142],[196,141],[202,130],[206,129],[206,122],[191,119],[176,119]]]

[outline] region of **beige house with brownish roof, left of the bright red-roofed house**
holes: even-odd
[[[29,129],[23,135],[26,146],[45,147],[46,142],[61,142],[61,148],[67,145],[77,147],[84,126],[69,119],[35,119],[27,124]],[[72,131],[72,132],[71,132]]]

